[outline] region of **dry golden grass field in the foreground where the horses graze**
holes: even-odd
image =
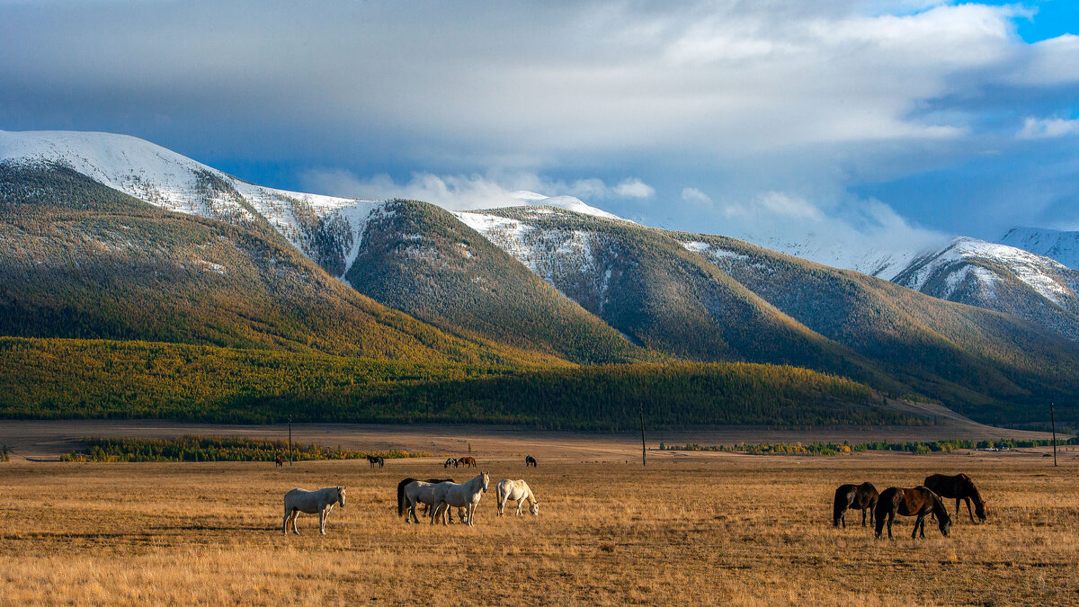
[[[1079,604],[1079,451],[750,457],[552,463],[477,454],[490,470],[474,528],[406,525],[395,487],[443,473],[434,460],[265,463],[0,463],[4,604]],[[538,456],[538,454],[536,454]],[[844,482],[913,486],[965,471],[986,525],[932,523],[875,540]],[[452,471],[459,481],[470,474]],[[524,477],[542,512],[495,516],[493,483]],[[349,487],[328,535],[282,495]],[[954,504],[950,505],[950,509]]]

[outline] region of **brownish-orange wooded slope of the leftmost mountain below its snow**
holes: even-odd
[[[357,294],[262,224],[166,212],[63,167],[0,165],[0,334],[516,361]]]

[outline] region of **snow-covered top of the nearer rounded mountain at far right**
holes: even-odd
[[[933,280],[937,297],[951,299],[962,285],[974,282],[987,298],[996,296],[996,285],[1006,276],[997,268],[1010,271],[1016,279],[1053,304],[1066,307],[1075,299],[1079,274],[1069,268],[1030,252],[994,244],[968,237],[954,239],[943,249],[919,257],[900,272],[893,282],[926,293]]]

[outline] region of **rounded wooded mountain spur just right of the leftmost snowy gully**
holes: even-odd
[[[431,204],[387,203],[368,221],[346,280],[448,332],[579,363],[657,358]]]

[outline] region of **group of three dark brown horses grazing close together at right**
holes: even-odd
[[[842,524],[843,527],[846,527],[846,512],[861,510],[863,527],[868,512],[870,524],[874,526],[876,537],[880,537],[885,524],[887,524],[888,538],[891,539],[891,524],[897,514],[916,516],[911,537],[915,538],[920,532],[924,538],[926,537],[926,516],[932,516],[937,520],[941,535],[947,537],[952,529],[952,517],[948,515],[942,498],[955,499],[957,516],[959,503],[966,502],[971,523],[975,522],[975,514],[980,522],[985,522],[985,500],[982,499],[981,493],[970,476],[966,474],[954,476],[931,474],[926,476],[923,484],[917,487],[888,487],[884,493],[877,493],[872,483],[839,485],[835,489],[835,500],[832,502],[832,525],[838,527]],[[970,508],[971,501],[974,503],[973,511]]]

